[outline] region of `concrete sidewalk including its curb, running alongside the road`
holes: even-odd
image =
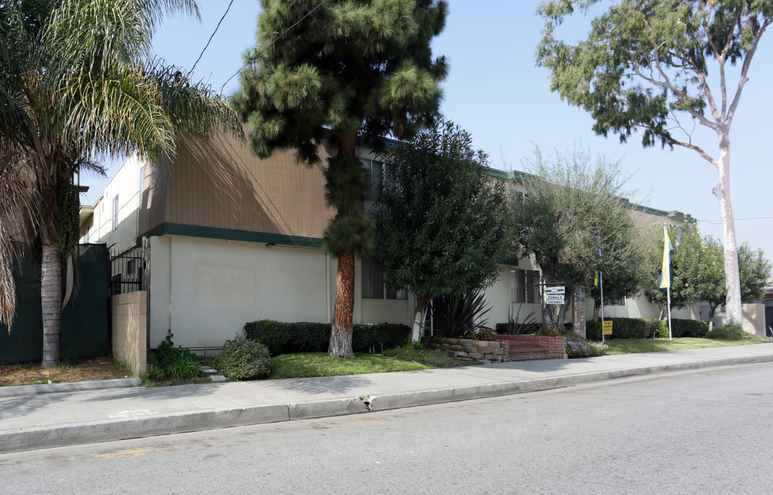
[[[670,370],[764,361],[773,361],[771,343],[344,377],[0,398],[0,454],[383,411]]]

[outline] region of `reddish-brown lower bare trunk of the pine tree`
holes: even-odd
[[[329,357],[354,357],[352,311],[354,309],[354,253],[341,251],[335,277],[335,304],[330,330]]]

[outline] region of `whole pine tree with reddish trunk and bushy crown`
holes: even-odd
[[[253,152],[267,158],[294,148],[298,162],[319,162],[329,133],[325,200],[335,217],[323,245],[338,258],[329,356],[353,357],[354,257],[372,250],[363,211],[369,177],[356,139],[409,138],[438,111],[443,57],[430,41],[444,27],[435,0],[262,0],[257,46],[245,54],[234,108],[250,124]]]

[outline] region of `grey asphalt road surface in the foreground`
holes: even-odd
[[[0,456],[0,493],[773,493],[773,363]]]

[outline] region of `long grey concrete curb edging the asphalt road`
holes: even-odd
[[[0,454],[75,446],[94,442],[137,439],[157,435],[201,432],[235,426],[295,421],[298,419],[362,414],[369,410],[386,411],[443,402],[550,390],[612,378],[658,374],[667,371],[698,370],[707,367],[737,364],[755,364],[768,361],[773,361],[773,356],[727,357],[689,363],[592,371],[583,374],[568,374],[561,377],[545,377],[533,380],[504,381],[491,384],[468,385],[465,387],[446,387],[398,394],[370,395],[366,399],[367,403],[363,402],[362,398],[357,397],[335,398],[325,401],[184,412],[148,418],[131,418],[118,421],[105,420],[83,425],[27,429],[18,432],[0,433]],[[46,386],[50,387],[50,385]],[[368,405],[370,406],[369,408],[367,407]]]

